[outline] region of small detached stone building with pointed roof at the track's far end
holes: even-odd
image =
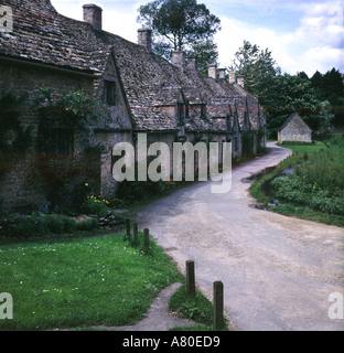
[[[278,131],[278,142],[312,142],[312,130],[298,113],[293,113]]]

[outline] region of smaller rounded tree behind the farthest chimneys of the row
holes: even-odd
[[[236,52],[229,71],[245,76],[246,89],[259,95],[262,105],[270,95],[273,78],[280,74],[280,67],[277,66],[271,52],[268,49],[260,50],[258,45],[248,41],[244,41],[244,45]]]

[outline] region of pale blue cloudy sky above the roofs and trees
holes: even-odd
[[[51,0],[55,9],[83,20],[83,4],[103,8],[103,29],[137,42],[138,8],[151,0]],[[335,67],[344,73],[344,0],[198,0],[222,22],[215,34],[219,66],[232,64],[244,41],[268,49],[282,73],[310,77]]]

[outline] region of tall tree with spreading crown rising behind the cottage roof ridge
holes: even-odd
[[[190,49],[221,30],[221,20],[196,0],[153,0],[139,13],[138,22],[152,30],[153,49],[162,46],[164,53]]]

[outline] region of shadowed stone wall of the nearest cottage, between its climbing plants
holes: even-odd
[[[60,71],[49,71],[43,67],[30,68],[23,65],[0,62],[1,86],[0,94],[13,92],[17,96],[25,94],[20,122],[23,128],[31,128],[32,142],[23,157],[13,159],[7,165],[8,172],[0,176],[1,211],[44,211],[46,188],[44,178],[40,175],[37,159],[39,116],[35,111],[36,99],[42,97],[40,87],[61,96],[71,90],[83,90],[92,94],[93,81],[88,77],[75,76]],[[77,149],[77,146],[75,146]]]

